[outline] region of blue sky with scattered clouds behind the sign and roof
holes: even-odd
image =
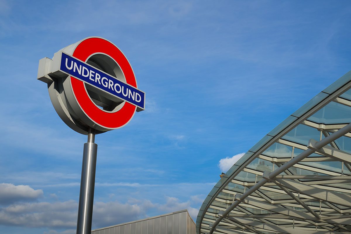
[[[2,233],[75,233],[87,139],[54,111],[39,59],[101,36],[146,92],[145,111],[96,137],[93,228],[185,208],[196,219],[232,156],[350,70],[350,10],[349,1],[0,0]]]

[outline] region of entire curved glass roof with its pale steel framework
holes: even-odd
[[[291,114],[221,178],[197,233],[351,232],[351,71]]]

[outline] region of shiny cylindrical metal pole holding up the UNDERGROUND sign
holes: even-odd
[[[88,142],[84,144],[82,176],[77,220],[77,234],[90,234],[93,216],[95,169],[98,145],[95,141],[95,129],[89,128]]]

